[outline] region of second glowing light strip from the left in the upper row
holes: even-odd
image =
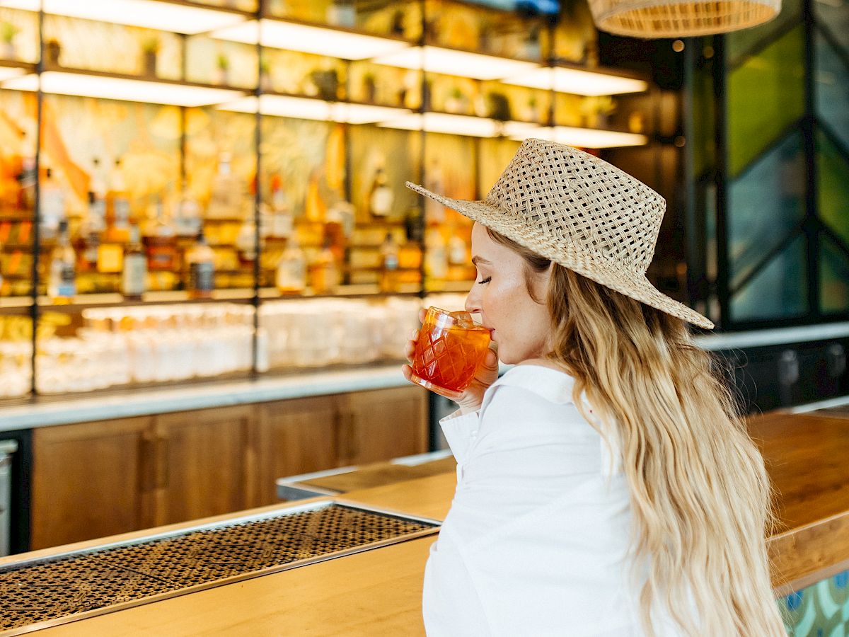
[[[341,59],[374,58],[408,47],[407,42],[386,37],[266,19],[260,20],[259,28],[256,20],[250,20],[213,31],[211,37],[245,44],[259,40],[263,47]]]

